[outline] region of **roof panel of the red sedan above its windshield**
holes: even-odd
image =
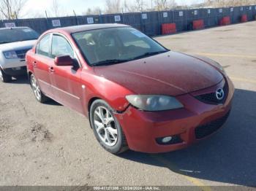
[[[63,28],[55,28],[52,31],[65,31],[69,34],[72,33],[77,33],[77,32],[82,32],[82,31],[91,31],[91,30],[96,30],[96,29],[101,29],[101,28],[117,28],[117,27],[127,27],[127,25],[122,25],[122,24],[92,24],[92,25],[83,25],[83,26],[68,26],[68,27],[63,27]]]

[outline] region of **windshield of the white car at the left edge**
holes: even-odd
[[[39,37],[31,28],[7,28],[0,30],[0,44],[34,40]]]

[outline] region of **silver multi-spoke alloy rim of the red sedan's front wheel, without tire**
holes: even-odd
[[[94,126],[99,138],[109,147],[116,145],[118,130],[112,114],[103,106],[94,110]]]

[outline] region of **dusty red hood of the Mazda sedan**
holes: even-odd
[[[223,79],[211,63],[179,52],[99,66],[94,72],[136,94],[181,95],[217,85]]]

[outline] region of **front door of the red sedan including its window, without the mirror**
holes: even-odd
[[[64,106],[68,106],[80,113],[83,113],[81,103],[82,86],[80,82],[80,67],[78,58],[69,43],[68,39],[61,34],[53,34],[51,46],[51,58],[56,56],[69,55],[74,59],[74,66],[50,66],[50,82],[53,88],[53,93],[56,95],[56,100]]]

